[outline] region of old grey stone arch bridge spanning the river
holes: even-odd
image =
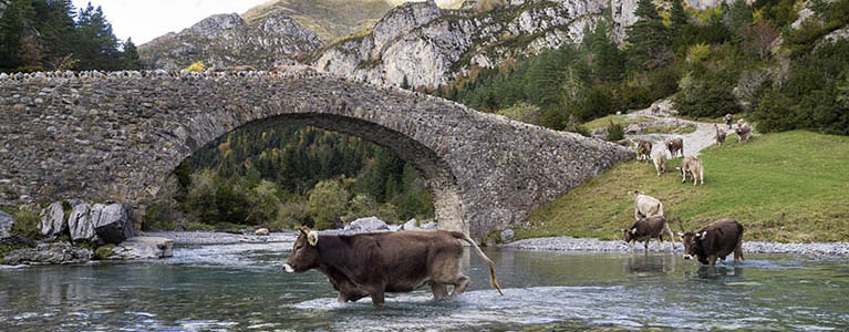
[[[143,212],[195,151],[272,123],[387,147],[422,173],[439,227],[477,239],[632,157],[602,141],[320,74],[3,74],[0,205],[82,198]]]

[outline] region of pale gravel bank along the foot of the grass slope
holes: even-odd
[[[503,245],[505,248],[522,250],[547,251],[594,251],[594,252],[624,252],[628,246],[622,241],[604,241],[599,239],[584,239],[572,237],[549,237],[525,239]],[[642,252],[642,243],[634,245],[634,252]],[[661,249],[656,249],[656,242],[652,241],[649,251],[669,252],[672,243],[663,242]],[[683,252],[681,242],[675,242],[674,252]],[[777,243],[777,242],[743,242],[743,252],[750,253],[791,253],[817,257],[849,257],[849,242],[820,242],[820,243]]]

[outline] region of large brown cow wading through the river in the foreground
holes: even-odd
[[[317,269],[339,291],[339,302],[371,297],[383,305],[385,292],[411,292],[424,284],[437,299],[454,299],[468,287],[460,273],[465,241],[489,264],[489,282],[499,293],[495,264],[468,236],[445,230],[405,230],[397,232],[319,235],[307,228],[294,242],[287,272]],[[447,286],[454,291],[448,295]]]

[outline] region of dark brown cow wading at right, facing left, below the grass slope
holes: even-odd
[[[734,218],[725,218],[700,229],[696,232],[679,234],[684,245],[684,259],[694,256],[703,264],[715,264],[716,259],[734,251],[734,262],[743,259],[743,225]]]

